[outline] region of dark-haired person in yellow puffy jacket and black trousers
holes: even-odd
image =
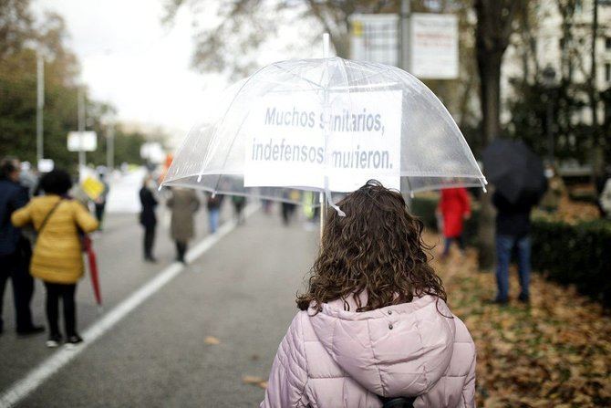
[[[14,212],[11,221],[17,227],[31,223],[38,234],[30,273],[42,279],[47,289],[47,347],[57,347],[62,341],[57,325],[60,298],[67,343],[76,344],[82,339],[77,332],[75,292],[84,270],[79,231],[95,231],[98,221],[82,204],[67,196],[72,187],[67,172],[54,170],[45,174],[40,187],[45,195],[33,198]]]

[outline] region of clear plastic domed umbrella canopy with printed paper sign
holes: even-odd
[[[408,194],[486,183],[448,110],[399,68],[277,62],[228,89],[218,109],[187,135],[163,185],[289,202],[293,189],[317,191],[333,205],[333,193],[370,179]]]

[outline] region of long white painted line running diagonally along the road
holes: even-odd
[[[259,208],[258,204],[248,205],[244,214],[246,217],[254,214]],[[209,235],[202,239],[200,243],[193,246],[192,250],[187,254],[187,262],[192,262],[203,253],[208,251],[216,244],[224,235],[229,234],[235,228],[235,221],[228,221],[217,230],[216,234]],[[144,284],[140,289],[132,293],[129,298],[126,298],[119,303],[114,309],[111,309],[101,319],[98,319],[93,325],[89,326],[83,333],[84,341],[74,348],[62,348],[57,350],[47,360],[42,361],[35,369],[29,371],[22,380],[15,382],[6,392],[0,395],[0,407],[8,408],[26,398],[31,392],[34,392],[38,386],[47,381],[49,377],[59,371],[68,362],[74,360],[78,354],[83,352],[89,344],[98,340],[107,331],[112,329],[121,319],[125,318],[129,312],[138,308],[142,302],[150,298],[153,294],[163,288],[174,277],[179,275],[184,270],[184,266],[179,263],[173,263],[166,267],[149,282]]]

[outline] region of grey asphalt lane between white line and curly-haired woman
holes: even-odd
[[[254,214],[18,406],[258,406],[316,241]]]

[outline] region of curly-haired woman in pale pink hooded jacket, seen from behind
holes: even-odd
[[[376,181],[339,206],[347,215],[327,217],[261,406],[474,406],[475,347],[422,223]]]

